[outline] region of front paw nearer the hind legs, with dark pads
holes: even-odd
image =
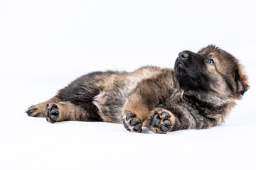
[[[142,121],[133,113],[127,113],[122,120],[124,128],[130,132],[142,132]]]

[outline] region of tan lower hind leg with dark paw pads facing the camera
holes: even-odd
[[[50,123],[62,121],[92,121],[92,116],[84,108],[65,101],[50,103],[46,108],[46,120]]]

